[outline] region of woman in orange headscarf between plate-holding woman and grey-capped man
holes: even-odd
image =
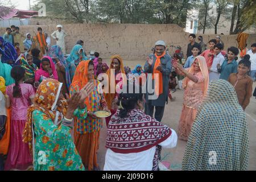
[[[108,69],[106,75],[108,75],[108,80],[105,81],[108,82],[109,88],[104,88],[104,97],[108,104],[108,108],[110,109],[111,114],[113,115],[118,109],[117,101],[119,94],[117,93],[117,90],[121,90],[123,82],[126,82],[127,80],[125,69],[123,68],[123,59],[121,56],[114,55],[111,57],[110,69]],[[112,79],[115,81],[113,81]],[[107,89],[108,92],[105,92],[105,89]],[[111,93],[111,90],[114,90],[114,93]],[[112,115],[106,118],[106,126],[109,125],[109,121]]]

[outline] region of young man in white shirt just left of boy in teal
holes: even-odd
[[[225,57],[221,53],[222,49],[223,49],[223,45],[220,43],[214,46],[214,49],[213,49],[214,58],[213,58],[212,67],[210,67],[210,70],[209,70],[209,81],[217,80],[218,78],[220,78],[220,73],[218,73],[217,64],[220,64],[221,66],[225,60]]]

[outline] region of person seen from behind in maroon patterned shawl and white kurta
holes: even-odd
[[[133,86],[133,93],[119,95],[119,109],[109,122],[104,170],[159,170],[156,146],[174,148],[177,134],[146,115],[143,111],[146,100],[142,90],[136,93],[135,84],[129,86]]]

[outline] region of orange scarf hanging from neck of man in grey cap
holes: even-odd
[[[156,60],[155,60],[155,66],[154,66],[154,69],[153,69],[152,80],[155,80],[155,74],[158,74],[159,82],[158,82],[158,84],[156,84],[156,82],[155,82],[156,96],[159,96],[160,94],[163,93],[163,74],[162,74],[162,72],[158,71],[156,68],[161,66],[161,58],[164,57],[164,55],[166,55],[166,52],[164,52],[161,56],[158,56],[155,53]]]

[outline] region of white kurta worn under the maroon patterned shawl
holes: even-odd
[[[171,129],[172,130],[172,129]],[[163,148],[174,148],[177,144],[177,134],[172,130],[172,134],[162,143]],[[151,171],[156,147],[146,151],[120,154],[108,148],[106,151],[104,171]]]

